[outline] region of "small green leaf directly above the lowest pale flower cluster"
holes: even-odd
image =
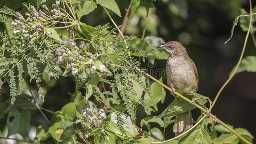
[[[81,112],[82,109],[89,107],[88,100],[86,100],[85,96],[82,96],[81,92],[79,92],[79,91],[75,92],[74,103],[75,103],[76,109],[79,112]]]

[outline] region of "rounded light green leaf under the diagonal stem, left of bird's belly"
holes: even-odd
[[[159,80],[162,81],[162,78]],[[144,100],[148,106],[156,105],[161,99],[165,99],[166,91],[162,85],[154,82],[149,85],[148,93],[145,94]],[[163,102],[163,100],[162,100]]]

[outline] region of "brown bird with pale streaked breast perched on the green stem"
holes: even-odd
[[[175,98],[175,91],[180,94],[193,94],[198,87],[198,72],[195,63],[188,56],[186,48],[177,41],[170,41],[165,45],[158,46],[165,49],[170,55],[166,63],[167,83],[171,87],[171,95]],[[195,105],[195,100],[192,100]],[[191,111],[178,114],[175,118],[172,131],[180,135],[185,128],[193,126]]]

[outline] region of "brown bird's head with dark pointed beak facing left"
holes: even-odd
[[[171,57],[188,55],[186,48],[184,48],[183,45],[177,41],[169,41],[165,45],[160,45],[157,48],[166,50]]]

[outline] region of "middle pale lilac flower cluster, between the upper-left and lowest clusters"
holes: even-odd
[[[89,43],[84,41],[81,41],[78,46],[73,39],[66,40],[56,51],[59,56],[56,63],[61,64],[65,60],[69,69],[68,75],[76,75],[79,70],[86,68],[96,71],[97,68],[93,65],[93,61],[97,60],[98,53],[93,54],[89,52],[88,47]],[[86,55],[87,57],[85,57]],[[99,71],[105,72],[105,65],[99,65]]]

